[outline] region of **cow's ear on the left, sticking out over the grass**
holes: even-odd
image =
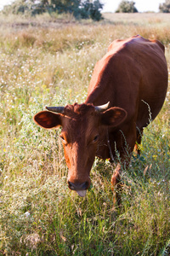
[[[42,111],[37,113],[33,120],[37,125],[40,125],[42,128],[45,129],[52,129],[57,127],[61,124],[61,114],[59,113],[52,113],[49,111]]]

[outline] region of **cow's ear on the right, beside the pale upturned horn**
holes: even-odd
[[[117,126],[120,125],[127,117],[127,112],[123,108],[109,108],[101,113],[102,125]]]

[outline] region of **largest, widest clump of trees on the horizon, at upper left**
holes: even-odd
[[[4,9],[4,13],[40,15],[44,12],[70,13],[76,18],[101,20],[99,0],[16,0]]]

